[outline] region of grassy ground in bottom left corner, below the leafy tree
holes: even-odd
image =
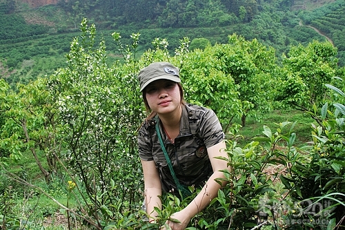
[[[41,151],[38,153],[43,167],[48,169],[44,153]],[[70,208],[79,207],[81,200],[79,194],[70,193],[70,198],[68,198],[68,177],[52,174],[50,182],[47,183],[30,151],[23,153],[19,162],[8,162],[7,170],[39,187],[63,206],[66,207],[69,203]],[[2,224],[1,214],[3,214],[6,216],[6,223],[19,229],[43,229],[42,227],[44,229],[68,229],[66,212],[57,202],[48,198],[39,189],[16,182],[16,180],[8,178],[5,173],[2,174],[1,171],[0,191],[7,194],[6,197],[0,195],[0,206],[8,206],[7,209],[0,209],[0,226]]]

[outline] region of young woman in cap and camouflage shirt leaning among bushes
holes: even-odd
[[[140,71],[138,79],[150,111],[138,135],[146,212],[149,221],[155,221],[154,207],[161,209],[159,196],[162,191],[179,195],[177,183],[202,186],[186,208],[171,215],[178,222],[166,223],[173,230],[186,229],[190,219],[207,207],[221,188],[215,179],[224,178],[220,170],[227,169],[227,162],[215,157],[227,157],[224,133],[212,110],[184,102],[179,70],[172,64],[152,63]]]

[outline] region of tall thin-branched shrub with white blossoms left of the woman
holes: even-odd
[[[57,95],[68,168],[83,182],[92,203],[88,215],[101,227],[100,216],[104,222],[117,218],[115,209],[128,210],[140,195],[135,133],[144,117],[135,78],[138,68],[127,56],[130,46],[124,49],[125,64],[109,67],[105,43],[97,47],[95,37],[95,25],[83,19],[81,35],[66,56],[68,66],[52,75],[48,85]],[[133,40],[135,48],[137,38]],[[110,208],[112,204],[118,206]]]

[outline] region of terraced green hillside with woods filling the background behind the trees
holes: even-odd
[[[190,48],[206,44],[226,44],[236,33],[248,40],[257,39],[275,48],[280,60],[290,46],[325,37],[338,49],[339,66],[345,64],[345,1],[320,6],[316,2],[277,1],[60,1],[57,5],[30,8],[14,0],[0,1],[0,77],[10,84],[28,83],[49,75],[65,65],[63,56],[78,35],[83,17],[95,23],[107,44],[109,61],[119,52],[112,32],[124,41],[141,34],[138,54],[152,47],[152,41],[165,38],[173,52],[179,39],[188,37]],[[314,8],[313,8],[314,7]],[[318,7],[318,8],[315,8]],[[302,26],[301,26],[302,25]],[[303,26],[304,25],[304,26]]]

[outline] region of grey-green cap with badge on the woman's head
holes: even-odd
[[[172,82],[181,82],[178,68],[165,61],[153,62],[146,68],[141,69],[138,79],[140,82],[140,92],[144,90],[148,84],[159,79],[168,79]]]

